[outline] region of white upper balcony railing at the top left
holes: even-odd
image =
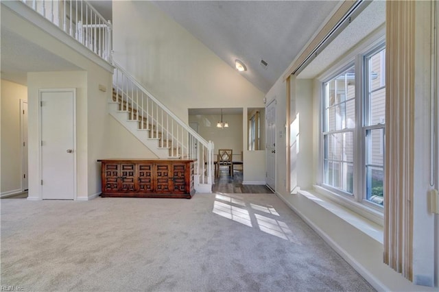
[[[75,40],[111,63],[110,21],[84,0],[21,0]]]

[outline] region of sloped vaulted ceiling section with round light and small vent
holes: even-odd
[[[338,1],[154,1],[195,38],[267,93]],[[265,68],[261,60],[268,63]]]

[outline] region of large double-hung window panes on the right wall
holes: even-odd
[[[322,186],[383,205],[385,47],[362,53],[322,88]]]

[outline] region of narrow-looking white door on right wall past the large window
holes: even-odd
[[[267,147],[265,150],[267,160],[266,182],[270,188],[276,190],[276,99],[265,109]]]

